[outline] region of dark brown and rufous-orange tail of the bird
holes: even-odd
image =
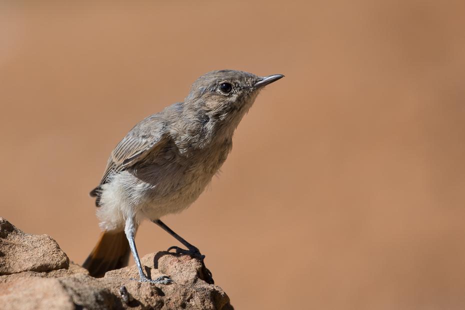
[[[89,270],[91,276],[102,277],[106,271],[126,266],[129,253],[124,231],[103,231],[82,267]]]

